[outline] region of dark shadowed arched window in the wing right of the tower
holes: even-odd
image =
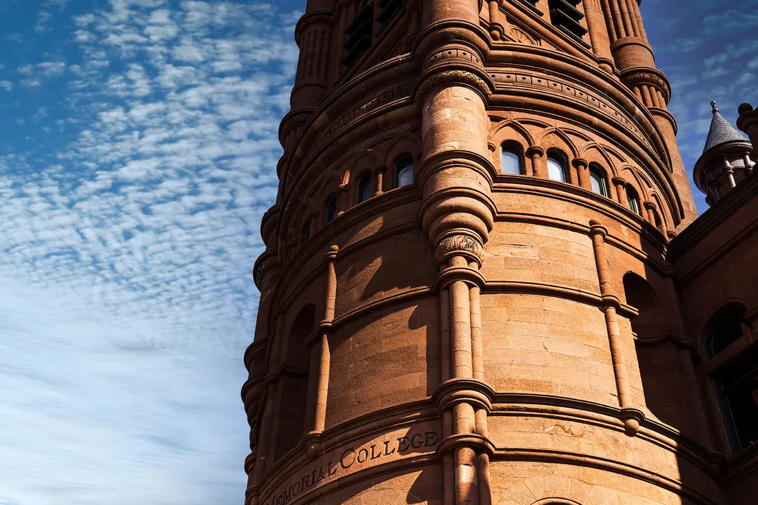
[[[716,365],[711,375],[734,453],[758,442],[758,349],[742,338],[744,315],[741,306],[723,309],[710,325],[706,340],[709,362]]]

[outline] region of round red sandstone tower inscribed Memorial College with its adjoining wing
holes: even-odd
[[[309,0],[296,39],[246,503],[758,503],[758,295],[703,296],[637,2]]]

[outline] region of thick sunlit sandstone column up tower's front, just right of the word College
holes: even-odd
[[[481,381],[479,269],[494,225],[494,167],[487,146],[486,102],[493,83],[484,71],[489,34],[473,0],[424,2],[416,60],[421,76],[421,224],[439,269],[442,368],[434,393],[443,418],[444,503],[489,505],[487,412],[492,389]]]

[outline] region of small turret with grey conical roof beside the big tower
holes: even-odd
[[[716,102],[711,102],[711,107],[713,119],[706,146],[694,168],[695,183],[707,195],[708,205],[750,176],[756,162],[750,142],[719,113]]]

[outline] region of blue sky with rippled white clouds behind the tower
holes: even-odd
[[[0,0],[0,505],[242,503],[304,3]],[[756,3],[642,4],[688,168],[758,102]]]

